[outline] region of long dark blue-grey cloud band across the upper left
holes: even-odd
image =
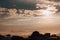
[[[36,8],[36,3],[27,0],[0,0],[0,7],[33,10]]]

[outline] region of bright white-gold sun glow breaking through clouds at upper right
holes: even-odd
[[[42,11],[42,15],[50,16],[55,14],[57,9],[54,6],[47,6],[45,10]]]

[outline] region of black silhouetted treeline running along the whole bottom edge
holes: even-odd
[[[8,34],[6,36],[0,35],[0,40],[60,40],[60,36],[56,34],[50,35],[50,33],[40,34],[38,31],[34,31],[27,38]]]

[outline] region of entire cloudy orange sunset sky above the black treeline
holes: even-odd
[[[59,30],[60,0],[0,0],[0,33],[28,35]]]

